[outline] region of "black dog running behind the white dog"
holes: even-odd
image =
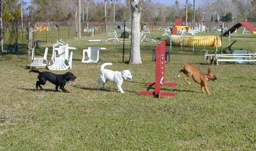
[[[37,76],[39,81],[36,82],[37,90],[38,90],[38,87],[40,88],[40,90],[43,90],[43,88],[40,85],[45,85],[46,81],[49,81],[52,84],[56,85],[56,88],[55,88],[56,91],[58,91],[58,88],[60,86],[60,89],[63,92],[69,93],[69,91],[64,88],[66,85],[66,82],[68,81],[75,82],[77,80],[77,77],[74,76],[71,72],[66,72],[65,74],[54,74],[47,71],[40,72],[38,70],[30,70],[29,73],[30,72],[39,73],[39,75]]]

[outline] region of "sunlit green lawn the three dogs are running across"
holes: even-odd
[[[148,37],[162,40],[162,34],[154,32]],[[249,37],[241,38],[241,43],[255,50],[255,37]],[[0,151],[256,150],[255,64],[222,63],[217,67],[206,64],[203,48],[195,52],[191,48],[173,48],[166,79],[179,85],[162,90],[175,92],[176,96],[157,99],[139,95],[146,91],[146,82],[155,80],[151,51],[156,43],[143,42],[143,64],[130,65],[122,63],[121,43],[87,43],[88,39],[107,37],[65,40],[78,48],[73,68],[68,70],[78,81],[66,86],[72,92],[69,94],[54,92],[55,86],[49,82],[43,86],[44,91],[36,91],[37,74],[25,69],[25,54],[0,56]],[[97,88],[103,62],[81,63],[82,50],[92,46],[107,48],[100,51],[104,62],[113,63],[107,68],[131,70],[135,80],[123,84],[125,94],[110,83],[107,91]],[[130,43],[125,48],[128,61]],[[213,53],[215,48],[207,50]],[[50,57],[51,49],[48,54]],[[212,96],[202,94],[192,79],[192,84],[187,85],[175,77],[183,63],[193,64],[203,73],[208,67],[215,72],[218,81],[209,82]]]

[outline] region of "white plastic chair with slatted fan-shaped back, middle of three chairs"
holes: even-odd
[[[69,50],[75,50],[76,48],[69,47],[69,44],[64,44],[58,41],[57,44],[53,44],[53,56],[51,57],[53,64],[48,65],[49,70],[67,70],[72,68],[73,51],[69,54]],[[56,48],[57,46],[59,48]]]

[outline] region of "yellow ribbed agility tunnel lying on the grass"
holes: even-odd
[[[183,46],[183,47],[221,47],[221,39],[216,38],[216,36],[178,36],[171,35],[167,38],[166,43],[167,46],[170,46],[170,38],[171,38],[171,46]],[[217,41],[218,40],[218,41]]]

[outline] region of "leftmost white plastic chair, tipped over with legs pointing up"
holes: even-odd
[[[39,67],[39,68],[45,68],[48,66],[47,62],[47,53],[48,48],[45,48],[44,56],[43,57],[35,57],[35,48],[32,49],[32,63],[27,65],[28,67]]]

